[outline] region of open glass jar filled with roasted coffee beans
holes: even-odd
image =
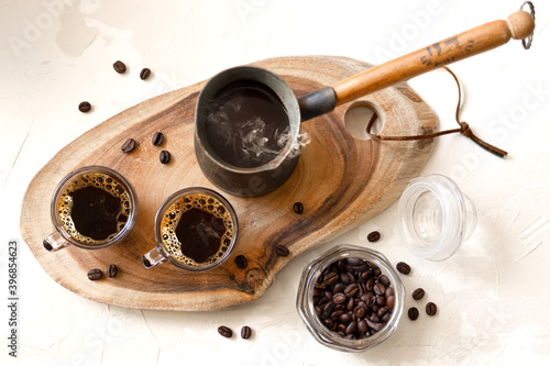
[[[395,332],[404,301],[403,282],[384,255],[339,245],[304,269],[297,308],[320,343],[362,352]]]

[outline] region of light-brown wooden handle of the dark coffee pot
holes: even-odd
[[[526,38],[534,30],[535,19],[525,11],[513,13],[506,21],[476,26],[333,85],[336,106],[502,46],[510,38]]]

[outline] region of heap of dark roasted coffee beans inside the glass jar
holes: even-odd
[[[384,329],[394,302],[389,279],[374,263],[356,257],[331,263],[315,284],[317,317],[342,337],[363,339]]]

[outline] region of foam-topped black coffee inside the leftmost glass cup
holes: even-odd
[[[87,173],[66,185],[57,200],[59,221],[74,240],[101,244],[114,237],[128,222],[129,192],[105,173]]]

